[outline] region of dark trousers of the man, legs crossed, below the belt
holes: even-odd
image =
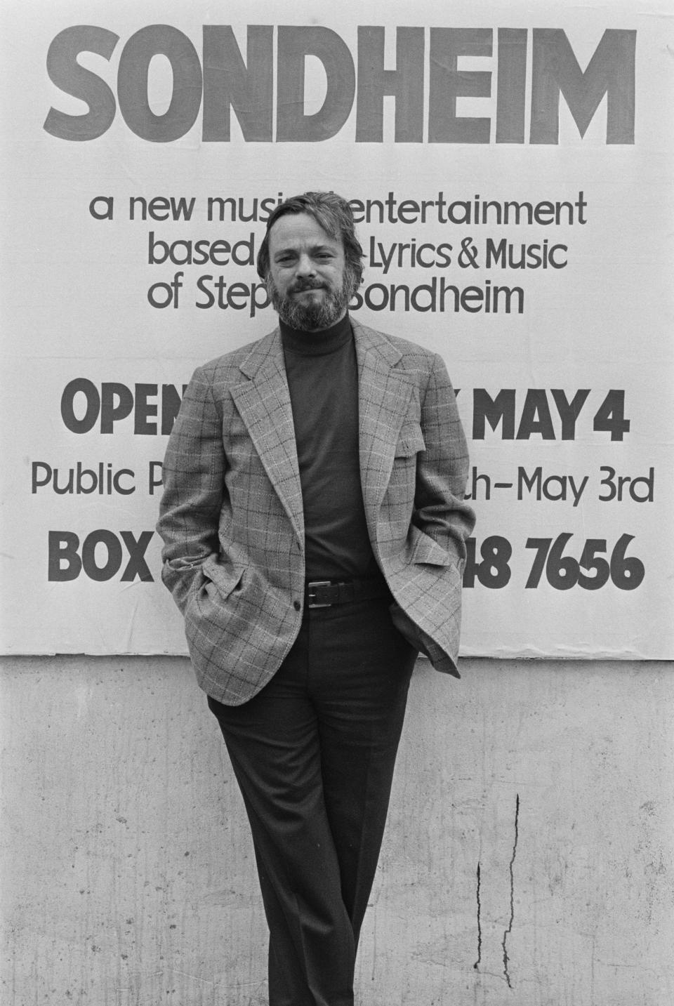
[[[390,599],[308,610],[272,681],[208,699],[247,811],[270,928],[270,1006],[352,1006],[416,651]]]

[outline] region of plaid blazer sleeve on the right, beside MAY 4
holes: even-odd
[[[422,398],[426,449],[417,456],[413,524],[450,555],[463,574],[466,539],[475,525],[464,499],[468,447],[454,388],[441,356],[435,356]]]

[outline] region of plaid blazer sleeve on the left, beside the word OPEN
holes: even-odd
[[[219,552],[218,524],[225,492],[222,416],[209,375],[194,371],[169,437],[157,531],[164,541],[162,579],[185,611],[201,567]]]

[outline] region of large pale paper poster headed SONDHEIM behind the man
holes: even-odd
[[[271,209],[334,189],[354,315],[458,388],[463,652],[674,655],[660,4],[45,0],[0,45],[7,652],[185,652],[167,436],[193,368],[275,324]]]

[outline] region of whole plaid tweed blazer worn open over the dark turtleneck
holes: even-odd
[[[466,441],[440,356],[352,322],[360,474],[375,559],[402,611],[457,674]],[[157,530],[199,685],[245,702],[302,622],[304,523],[281,334],[198,367],[169,439]]]

